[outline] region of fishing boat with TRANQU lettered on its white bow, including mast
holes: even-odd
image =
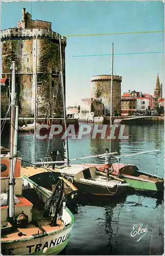
[[[48,200],[46,190],[41,197],[31,187],[22,190],[15,96],[15,61],[12,61],[10,155],[1,156],[2,254],[58,254],[69,242],[74,217],[65,205],[63,179],[57,177]]]

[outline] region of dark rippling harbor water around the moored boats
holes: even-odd
[[[78,131],[77,131],[78,132]],[[112,140],[112,151],[119,155],[160,150],[143,155],[127,156],[121,163],[135,164],[142,172],[164,177],[164,125],[126,125],[128,139]],[[61,138],[37,142],[37,158],[48,156],[58,146],[65,147]],[[4,131],[2,145],[9,147],[9,134]],[[109,140],[87,134],[81,139],[69,137],[70,159],[103,154]],[[34,135],[20,133],[19,156],[33,161]],[[87,161],[88,160],[88,161]],[[77,160],[74,163],[102,163],[102,159]],[[65,255],[161,255],[164,252],[162,198],[154,195],[123,194],[117,199],[79,195],[71,210],[75,222],[70,242],[61,252]],[[137,232],[138,231],[138,232]]]

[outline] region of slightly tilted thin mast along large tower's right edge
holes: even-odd
[[[60,35],[60,64],[61,64],[61,83],[62,83],[62,93],[63,93],[63,108],[64,108],[64,125],[65,133],[67,131],[67,116],[66,116],[66,106],[65,106],[65,91],[64,91],[64,78],[63,78],[63,64],[62,64],[62,51],[61,51],[61,35]],[[67,165],[69,166],[69,147],[68,147],[68,137],[66,136],[66,155],[67,155]]]

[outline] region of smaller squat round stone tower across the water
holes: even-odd
[[[102,99],[106,115],[111,110],[111,75],[96,75],[91,77],[91,98]],[[121,76],[113,76],[113,112],[121,112]]]

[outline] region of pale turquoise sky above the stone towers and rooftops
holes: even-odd
[[[114,74],[122,76],[122,93],[153,95],[157,73],[164,92],[163,32],[153,32],[164,30],[162,1],[1,2],[1,30],[16,26],[22,8],[67,37],[66,106],[90,98],[91,76],[111,74],[113,42]],[[152,33],[133,33],[146,31]]]

